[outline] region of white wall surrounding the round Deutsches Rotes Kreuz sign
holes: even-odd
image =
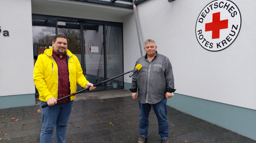
[[[149,0],[138,5],[142,43],[155,40],[157,51],[169,57],[176,93],[256,109],[256,1],[233,0],[242,25],[231,46],[213,52],[200,46],[196,21],[211,0]],[[124,71],[134,68],[141,56],[133,14],[124,21]],[[144,44],[143,44],[144,47]],[[131,83],[129,75],[125,82]]]

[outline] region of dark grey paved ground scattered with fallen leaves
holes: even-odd
[[[0,109],[0,143],[39,142],[42,124],[41,113],[37,112],[40,101],[36,99],[36,102],[34,106]],[[78,94],[73,108],[66,142],[137,142],[139,107],[138,100],[131,98],[131,92],[114,90]],[[170,142],[256,142],[172,107],[168,107],[167,114]],[[153,109],[149,115],[148,132],[147,142],[161,142]]]

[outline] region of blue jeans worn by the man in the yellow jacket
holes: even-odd
[[[41,106],[47,102],[41,101]],[[55,142],[64,143],[66,141],[66,124],[69,120],[73,101],[59,103],[54,106],[41,108],[42,113],[42,129],[40,133],[40,143],[52,142],[52,133],[55,128]]]

